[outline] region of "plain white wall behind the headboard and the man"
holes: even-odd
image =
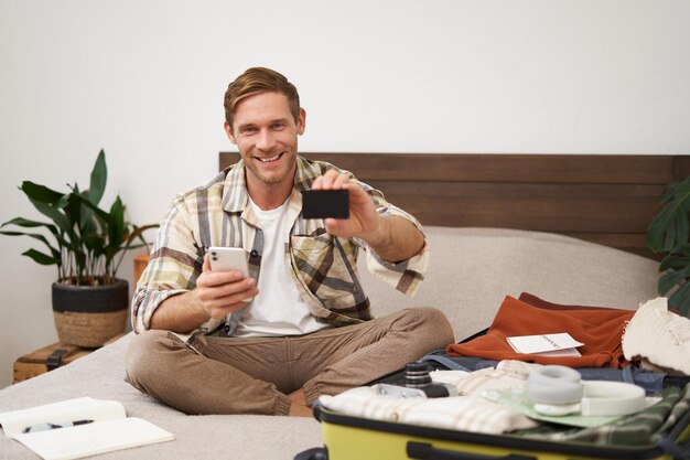
[[[88,183],[158,221],[230,149],[223,94],[300,88],[303,151],[690,153],[687,0],[0,0],[0,222],[22,180]],[[0,387],[55,341],[53,268],[0,237]],[[131,263],[121,275],[131,276]]]

